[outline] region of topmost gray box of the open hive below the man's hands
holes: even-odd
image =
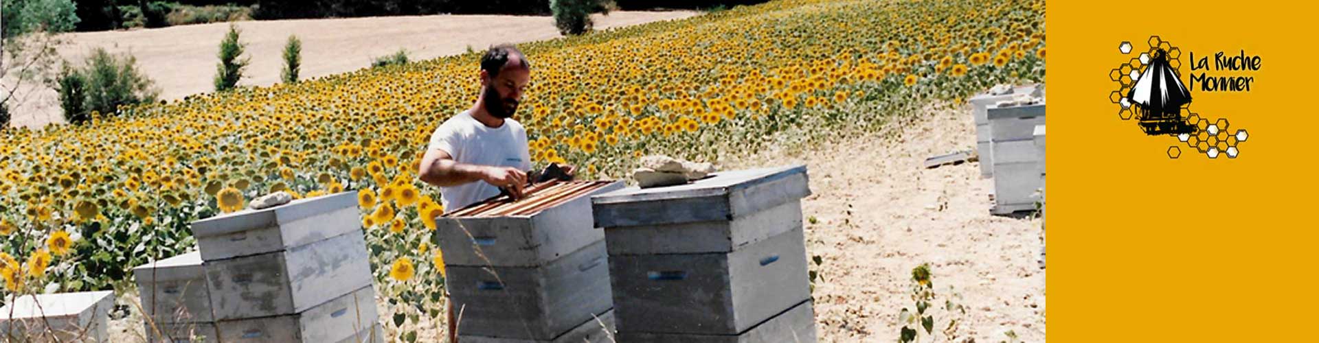
[[[546,265],[604,239],[591,218],[591,195],[619,189],[621,181],[526,216],[437,218],[431,239],[451,266]]]

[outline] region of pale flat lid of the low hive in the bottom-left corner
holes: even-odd
[[[18,297],[18,299],[9,296],[5,297],[8,305],[0,307],[0,313],[4,313],[4,319],[11,318],[11,310],[13,319],[77,317],[98,305],[103,307],[98,307],[96,311],[109,311],[109,303],[102,302],[112,299],[113,296],[113,290],[29,294]]]

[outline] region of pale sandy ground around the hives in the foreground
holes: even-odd
[[[1000,342],[1012,330],[1025,342],[1043,342],[1041,220],[989,215],[993,186],[977,164],[923,168],[926,157],[975,146],[969,107],[918,117],[807,153],[770,146],[723,168],[807,165],[807,255],[823,259],[814,266],[823,276],[814,292],[820,342],[897,340],[898,311],[914,307],[910,270],[922,263],[933,268],[936,303],[951,294],[948,286],[962,296],[955,301],[967,309],[962,336]],[[383,298],[377,303],[384,322],[394,309]],[[936,326],[948,318],[938,311]],[[119,338],[141,336],[140,317],[115,322]],[[423,321],[418,338],[438,342],[443,330],[442,321]]]

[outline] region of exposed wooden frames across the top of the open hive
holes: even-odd
[[[493,218],[532,216],[547,208],[567,203],[579,197],[590,195],[617,181],[546,181],[532,185],[521,199],[512,201],[508,195],[497,195],[484,202],[474,203],[446,218]]]

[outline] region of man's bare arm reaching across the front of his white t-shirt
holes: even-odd
[[[421,158],[421,170],[417,178],[422,182],[450,187],[468,182],[484,181],[496,187],[513,190],[514,197],[521,197],[522,186],[526,185],[526,173],[516,168],[468,165],[454,161],[454,157],[445,150],[431,149]]]

